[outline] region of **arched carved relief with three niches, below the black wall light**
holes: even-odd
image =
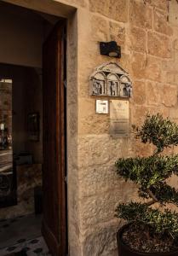
[[[129,73],[115,62],[97,67],[89,78],[89,87],[91,96],[129,98],[132,95]]]

